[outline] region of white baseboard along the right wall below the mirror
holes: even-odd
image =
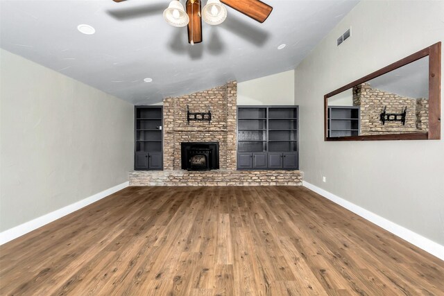
[[[395,234],[395,236],[399,236],[405,241],[408,241],[409,243],[416,245],[416,247],[425,250],[425,252],[428,252],[438,257],[439,259],[444,260],[444,245],[435,243],[434,241],[429,240],[429,238],[425,238],[424,236],[421,236],[416,232],[412,232],[411,230],[405,227],[402,227],[396,223],[391,222],[390,220],[387,220],[386,218],[382,218],[381,216],[378,216],[377,214],[371,211],[359,207],[358,205],[352,202],[344,200],[343,198],[340,198],[339,196],[334,195],[333,193],[325,191],[324,189],[321,189],[318,186],[314,186],[313,184],[310,184],[305,181],[302,182],[302,186],[305,186],[311,191],[323,195],[323,197],[327,198],[328,200],[331,200],[336,204],[339,204],[341,207],[345,207],[345,209],[348,209],[349,211],[352,211],[353,213],[361,216],[362,218],[370,221],[371,223],[374,223],[379,227],[386,229],[388,232]]]

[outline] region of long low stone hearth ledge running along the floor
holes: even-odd
[[[131,171],[130,186],[302,186],[302,171]]]

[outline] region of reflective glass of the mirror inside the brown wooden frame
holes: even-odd
[[[331,96],[328,106],[358,106],[360,136],[405,134],[429,131],[428,98],[429,57],[425,57]],[[384,107],[386,113],[398,114],[407,107],[405,125],[400,121],[386,121],[383,125],[380,114]],[[339,123],[330,122],[329,128],[330,125],[334,129]],[[338,132],[330,133],[330,137],[334,134]]]

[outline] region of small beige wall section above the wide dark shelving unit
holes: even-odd
[[[294,71],[237,83],[237,105],[293,105]]]

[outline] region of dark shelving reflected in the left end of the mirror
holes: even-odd
[[[359,136],[359,106],[328,106],[328,137]]]

